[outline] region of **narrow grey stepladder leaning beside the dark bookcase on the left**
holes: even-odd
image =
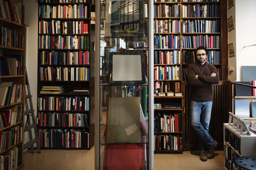
[[[28,73],[26,71],[26,88],[25,88],[25,129],[24,133],[29,133],[29,141],[27,143],[24,143],[24,150],[26,148],[30,148],[30,152],[34,153],[34,143],[36,143],[37,152],[40,153],[40,146],[38,141],[38,134],[36,131],[36,120],[35,120],[35,113],[33,109],[33,103],[32,103],[32,96],[30,92],[29,87],[29,81],[28,81]],[[32,130],[33,129],[33,130]],[[32,131],[34,131],[35,138],[33,138]]]

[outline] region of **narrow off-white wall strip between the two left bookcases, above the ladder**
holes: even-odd
[[[37,23],[38,23],[38,3],[36,0],[24,0],[25,24],[27,27],[27,50],[26,66],[28,72],[29,86],[31,90],[33,108],[36,113],[37,107]]]

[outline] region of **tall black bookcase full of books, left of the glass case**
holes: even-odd
[[[42,149],[93,146],[89,0],[39,1],[38,136]]]

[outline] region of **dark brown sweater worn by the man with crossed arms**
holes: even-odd
[[[189,90],[191,92],[191,99],[193,101],[212,101],[212,84],[218,84],[220,76],[215,66],[207,64],[201,66],[198,62],[189,65],[187,69],[187,76]],[[216,76],[211,76],[212,73],[216,73]],[[198,75],[198,79],[195,78]]]

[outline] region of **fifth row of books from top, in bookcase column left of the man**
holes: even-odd
[[[180,80],[180,66],[155,66],[155,80]]]

